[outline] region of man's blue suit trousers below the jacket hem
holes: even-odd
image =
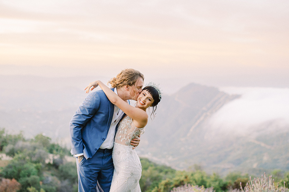
[[[113,176],[112,149],[98,149],[92,158],[76,158],[78,192],[96,192],[97,184],[104,192],[109,192]],[[99,190],[98,190],[99,191]]]

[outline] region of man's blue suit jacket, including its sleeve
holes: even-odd
[[[69,124],[72,155],[83,152],[86,159],[92,158],[107,137],[113,112],[114,105],[102,90],[85,98]]]

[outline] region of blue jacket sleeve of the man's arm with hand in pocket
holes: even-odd
[[[73,115],[70,124],[71,154],[83,153],[81,129],[86,125],[92,116],[98,111],[100,97],[97,92],[89,94]]]

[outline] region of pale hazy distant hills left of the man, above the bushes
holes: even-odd
[[[0,127],[26,137],[69,138],[68,124],[95,77],[0,76]]]

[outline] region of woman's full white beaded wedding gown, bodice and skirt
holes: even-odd
[[[144,128],[136,128],[129,116],[120,122],[112,152],[114,172],[110,192],[141,192],[141,162],[130,143],[143,133]]]

